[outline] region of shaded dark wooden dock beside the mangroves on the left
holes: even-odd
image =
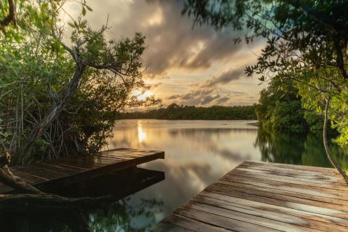
[[[25,167],[11,167],[11,171],[28,183],[45,189],[54,185],[83,183],[90,178],[129,169],[157,159],[164,159],[163,151],[118,148],[95,155],[65,157],[50,162],[29,164]],[[11,190],[6,185],[0,185],[0,193]]]

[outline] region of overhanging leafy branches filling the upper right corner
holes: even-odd
[[[347,0],[184,2],[182,13],[191,15],[195,23],[242,31],[246,42],[258,36],[267,38],[258,62],[246,67],[246,73],[262,82],[275,76],[293,79],[303,107],[317,114],[322,114],[323,102],[331,99],[329,118],[340,132],[337,141],[348,144]],[[241,41],[240,36],[235,38],[235,42]],[[258,109],[259,118],[271,116],[264,105]]]

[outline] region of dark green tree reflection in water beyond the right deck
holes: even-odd
[[[264,162],[331,167],[327,160],[321,134],[283,134],[260,128],[256,138]],[[330,143],[330,150],[341,167],[348,167],[347,148]]]

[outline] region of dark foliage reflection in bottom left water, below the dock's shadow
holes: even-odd
[[[77,210],[29,210],[0,213],[1,231],[145,231],[155,224],[160,201],[142,199],[139,205],[132,205],[129,199],[122,199],[98,209]],[[81,218],[83,217],[83,218]],[[141,217],[144,224],[136,224]]]

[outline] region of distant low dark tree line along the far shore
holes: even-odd
[[[256,119],[254,106],[196,107],[177,105],[148,111],[134,111],[120,114],[121,119],[170,119],[170,120],[251,120]]]

